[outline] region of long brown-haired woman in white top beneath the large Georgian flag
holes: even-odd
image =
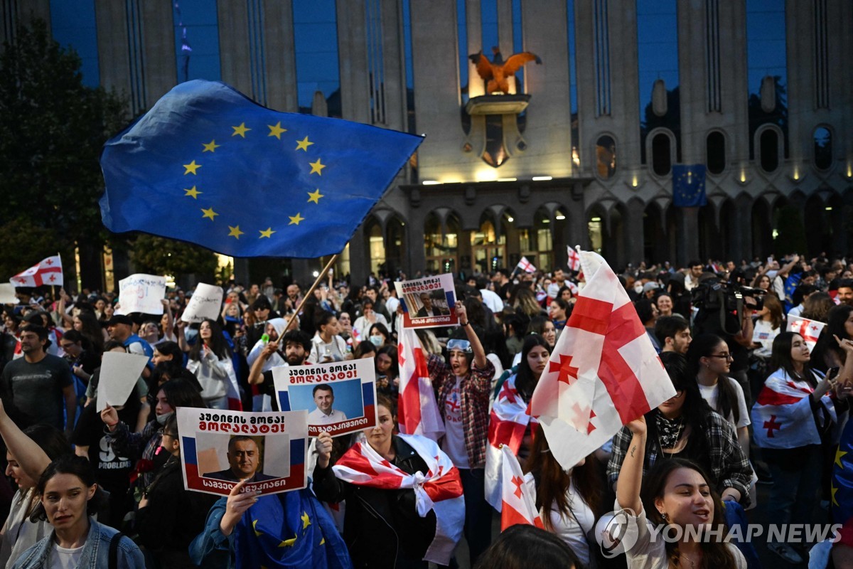
[[[595,566],[589,543],[595,520],[604,513],[605,491],[598,459],[587,456],[566,472],[551,454],[542,425],[537,425],[525,462],[527,472],[533,473],[537,483],[537,506],[545,529],[566,542],[583,566]]]

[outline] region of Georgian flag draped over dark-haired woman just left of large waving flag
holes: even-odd
[[[503,456],[508,449],[513,456],[519,453],[521,441],[531,419],[530,405],[515,389],[515,375],[508,378],[497,394],[489,415],[489,444],[485,448],[485,499],[498,512],[501,511],[503,485]]]

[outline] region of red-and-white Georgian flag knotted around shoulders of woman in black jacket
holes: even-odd
[[[426,437],[398,435],[421,456],[429,468],[426,475],[409,474],[382,458],[367,443],[353,444],[332,467],[339,479],[355,485],[383,490],[415,491],[415,508],[421,518],[435,512],[435,537],[425,561],[447,565],[465,525],[465,496],[459,471],[438,444]]]

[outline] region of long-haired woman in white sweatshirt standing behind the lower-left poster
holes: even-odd
[[[237,384],[228,343],[219,325],[206,318],[199,326],[199,337],[189,349],[187,369],[201,384],[201,398],[210,409],[228,409],[228,382]]]

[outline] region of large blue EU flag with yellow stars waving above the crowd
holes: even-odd
[[[340,253],[421,140],[188,81],[104,145],[103,223],[233,257]]]

